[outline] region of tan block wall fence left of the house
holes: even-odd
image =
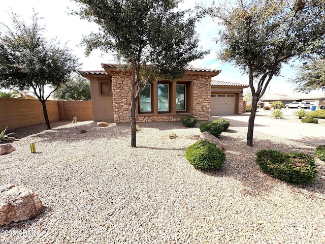
[[[52,101],[46,102],[50,122],[57,120],[92,120],[91,101]],[[39,100],[0,98],[0,131],[45,124],[43,107]]]

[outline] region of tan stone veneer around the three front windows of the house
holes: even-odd
[[[112,72],[112,96],[115,123],[129,123],[131,107],[131,72]],[[192,115],[198,120],[210,118],[211,77],[187,74],[185,79],[192,80],[193,107]],[[151,115],[137,116],[137,122],[180,121],[184,115]]]

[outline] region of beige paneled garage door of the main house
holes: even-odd
[[[234,114],[235,94],[211,94],[211,115]]]

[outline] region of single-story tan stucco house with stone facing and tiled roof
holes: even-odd
[[[102,64],[104,70],[81,71],[90,81],[94,121],[129,123],[131,69]],[[208,120],[210,115],[243,111],[243,84],[211,81],[221,70],[186,68],[175,82],[154,81],[141,92],[136,108],[138,122],[179,121],[185,115]]]

